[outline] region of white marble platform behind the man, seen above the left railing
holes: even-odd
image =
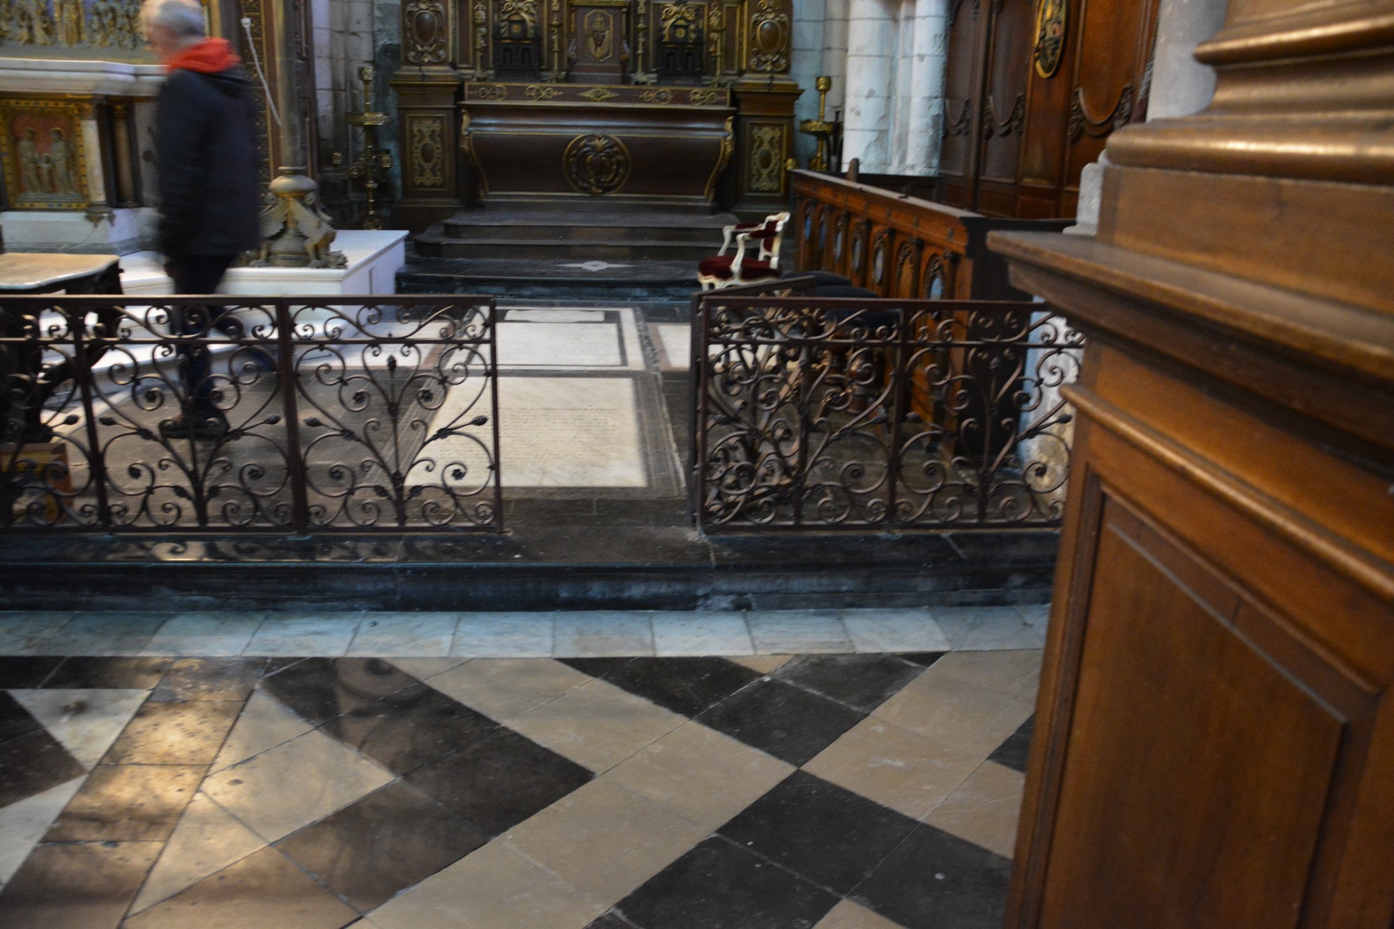
[[[396,293],[397,269],[406,264],[406,241],[403,229],[346,229],[335,239],[335,248],[348,258],[347,268],[231,268],[219,293]],[[139,251],[121,258],[121,290],[134,296],[169,294],[174,293],[174,283],[164,273],[159,252]]]

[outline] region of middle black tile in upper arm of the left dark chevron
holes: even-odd
[[[463,750],[495,728],[489,717],[418,683],[350,710],[323,731],[401,776]]]

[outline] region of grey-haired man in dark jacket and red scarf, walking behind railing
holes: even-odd
[[[169,68],[155,124],[164,271],[174,293],[213,293],[237,255],[261,243],[251,85],[227,40],[206,36],[198,3],[146,0],[141,15],[151,49]],[[222,307],[183,307],[171,324],[185,336],[212,328],[243,333]],[[220,438],[227,417],[217,407],[208,349],[181,346],[178,354],[184,411],[160,431]]]

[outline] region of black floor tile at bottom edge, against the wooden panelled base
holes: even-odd
[[[849,898],[907,929],[999,929],[1012,862],[919,826]]]

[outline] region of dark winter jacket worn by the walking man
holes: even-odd
[[[166,78],[155,127],[166,255],[231,255],[259,246],[254,106],[240,64],[212,74],[176,67]]]

